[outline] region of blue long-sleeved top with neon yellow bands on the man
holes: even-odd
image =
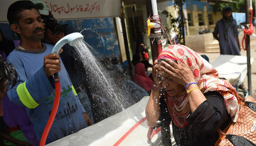
[[[26,108],[29,119],[34,124],[35,134],[41,139],[52,111],[54,101],[54,80],[44,72],[44,56],[52,52],[52,45],[42,44],[39,51],[22,50],[18,47],[8,56],[19,75],[20,82],[7,92],[10,100]],[[82,107],[67,70],[61,61],[59,72],[61,96],[59,108],[46,139],[46,144],[65,137],[86,127]]]

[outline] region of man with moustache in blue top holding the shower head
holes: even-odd
[[[37,138],[40,140],[53,107],[52,75],[56,72],[60,76],[62,91],[59,110],[46,144],[85,128],[86,113],[59,55],[51,54],[52,45],[41,43],[44,38],[43,23],[34,4],[31,1],[16,1],[8,8],[7,19],[11,29],[21,39],[20,45],[8,56],[20,83],[7,94],[13,103],[25,107]]]

